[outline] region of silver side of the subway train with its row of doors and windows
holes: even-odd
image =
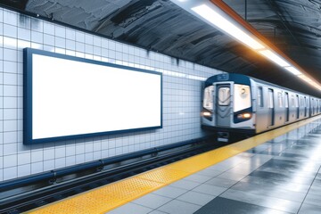
[[[270,86],[261,82],[252,84],[251,90],[256,99],[255,126],[256,133],[278,128],[286,124],[309,118],[309,95],[304,95],[284,88]],[[313,110],[316,115],[316,110]]]

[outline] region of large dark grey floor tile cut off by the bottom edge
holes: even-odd
[[[280,210],[272,210],[258,205],[238,202],[226,198],[217,197],[207,203],[195,214],[287,214]]]

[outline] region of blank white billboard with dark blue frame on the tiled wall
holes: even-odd
[[[26,144],[161,128],[161,73],[25,52]]]

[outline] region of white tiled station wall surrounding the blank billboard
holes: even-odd
[[[163,73],[163,128],[66,142],[22,142],[22,49],[86,57]],[[0,8],[0,181],[205,135],[202,80],[218,70],[147,52]],[[126,122],[126,121],[124,121]]]

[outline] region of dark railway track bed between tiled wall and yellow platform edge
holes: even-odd
[[[0,213],[21,213],[56,202],[72,195],[83,193],[102,185],[131,177],[144,171],[155,169],[171,162],[179,161],[193,155],[207,152],[222,146],[222,143],[213,143],[212,139],[188,144],[171,149],[170,151],[155,152],[145,157],[124,162],[105,165],[88,175],[85,172],[69,175],[24,186],[16,193],[6,193],[0,199]],[[71,178],[70,178],[71,177]],[[21,193],[19,193],[21,192]]]

